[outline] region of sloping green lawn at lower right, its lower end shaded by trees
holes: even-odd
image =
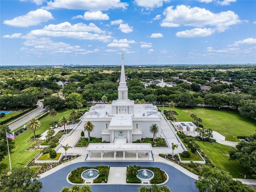
[[[216,142],[196,141],[196,143],[218,170],[229,172],[233,178],[244,178],[244,175],[246,175],[246,178],[251,178],[250,174],[245,171],[245,168],[238,161],[229,160],[228,150],[232,147]]]

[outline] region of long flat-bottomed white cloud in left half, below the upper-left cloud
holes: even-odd
[[[66,37],[74,39],[84,39],[84,40],[99,40],[103,42],[108,42],[112,38],[106,35],[103,30],[98,28],[94,23],[86,25],[84,23],[70,24],[69,22],[64,22],[60,24],[50,24],[44,26],[43,29],[32,30],[27,34],[26,38],[30,36],[52,36],[52,37]]]

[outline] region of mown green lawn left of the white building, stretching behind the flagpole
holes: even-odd
[[[57,116],[55,117],[55,121],[57,122],[62,116],[69,117],[71,109],[68,110],[60,110],[58,111]],[[41,126],[40,129],[36,131],[36,134],[42,134],[46,130],[50,128],[50,124],[53,119],[49,115],[40,119]],[[22,126],[21,126],[22,127]],[[20,168],[26,166],[30,160],[34,158],[41,150],[29,150],[28,148],[34,142],[28,142],[30,138],[33,136],[33,132],[30,130],[24,131],[22,134],[15,136],[15,148],[13,153],[10,154],[12,168]],[[4,160],[0,163],[1,171],[8,172],[10,170],[9,158],[8,155],[5,156]]]

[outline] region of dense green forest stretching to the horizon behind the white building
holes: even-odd
[[[256,120],[255,65],[125,66],[125,72],[128,97],[136,103],[226,107]],[[0,109],[29,108],[41,99],[56,110],[111,102],[118,97],[119,77],[120,66],[2,67]],[[173,86],[152,83],[162,79]]]

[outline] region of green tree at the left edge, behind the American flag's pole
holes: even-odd
[[[7,140],[6,140],[6,132],[10,133],[8,125],[0,125],[0,161],[4,159],[4,156],[8,154]],[[9,150],[12,152],[14,149],[14,140],[8,139]]]

